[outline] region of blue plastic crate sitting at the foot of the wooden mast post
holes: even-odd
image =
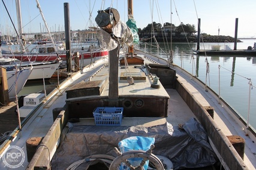
[[[94,109],[94,120],[97,126],[120,126],[124,107],[97,107]]]

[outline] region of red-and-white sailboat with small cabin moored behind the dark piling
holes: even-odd
[[[22,18],[20,14],[20,1],[16,0],[17,5],[17,18],[19,23],[19,36],[22,38]],[[40,5],[38,6],[38,9],[41,10]],[[40,11],[41,16],[43,16],[43,12]],[[43,20],[45,21],[44,17]],[[46,21],[45,21],[46,22]],[[47,27],[47,23],[46,23]],[[50,33],[48,29],[48,33]],[[51,41],[42,41],[38,42],[38,45],[34,48],[32,48],[31,51],[26,52],[24,49],[24,46],[22,45],[22,42],[20,43],[20,51],[13,52],[13,51],[2,51],[3,57],[14,57],[20,61],[37,61],[37,62],[45,62],[45,61],[58,61],[61,60],[60,64],[61,67],[67,67],[67,55],[66,50],[64,47],[64,44],[62,43],[56,43],[52,36],[50,36]],[[98,45],[99,44],[99,45]],[[106,58],[108,56],[108,51],[106,48],[104,48],[104,45],[101,43],[101,41],[97,40],[97,45],[90,44],[88,45],[82,45],[83,47],[80,48],[72,48],[71,49],[71,61],[73,66],[76,64],[74,60],[76,60],[77,57],[79,57],[79,67],[87,66],[88,64],[93,64],[94,61],[99,60],[101,58]],[[79,52],[79,56],[75,55],[76,52]],[[48,62],[48,64],[49,64]]]

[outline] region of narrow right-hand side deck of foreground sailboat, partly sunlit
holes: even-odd
[[[181,75],[182,73],[179,74]],[[243,125],[237,123],[236,120],[234,120],[234,117],[225,111],[224,105],[212,98],[210,92],[206,92],[204,87],[202,88],[201,86],[196,85],[193,78],[185,79],[183,76],[179,76],[179,74],[177,76],[179,77],[180,82],[188,88],[191,94],[197,98],[202,106],[212,106],[214,108],[214,121],[217,123],[218,129],[223,132],[225,136],[233,135],[242,137],[245,140],[245,154],[243,161],[248,169],[255,169],[256,165],[254,160],[256,160],[256,147],[253,141],[254,138],[250,138],[246,135],[245,131],[241,131]]]

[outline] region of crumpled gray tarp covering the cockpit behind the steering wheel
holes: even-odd
[[[217,160],[203,126],[195,119],[188,120],[183,129],[170,123],[150,128],[81,126],[76,123],[68,126],[68,133],[53,157],[53,169],[65,169],[71,163],[94,154],[116,156],[113,148],[118,148],[119,141],[131,136],[155,138],[153,154],[168,157],[174,169],[209,166]]]

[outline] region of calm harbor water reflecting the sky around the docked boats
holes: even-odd
[[[242,41],[237,43],[237,50],[247,49],[248,46],[253,47],[256,39],[242,39]],[[168,48],[164,44],[160,43],[159,45],[162,50]],[[234,48],[233,43],[204,43],[200,44],[200,50],[209,50],[212,45],[221,45],[221,49],[224,49],[224,45],[228,45],[231,49]],[[137,45],[137,48],[141,51],[151,51],[150,53],[152,54],[159,54],[161,57],[166,58],[164,51],[156,48],[155,45],[141,43]],[[174,63],[197,76],[204,83],[206,82],[217,94],[219,93],[219,66],[221,66],[221,97],[246,121],[249,113],[249,123],[256,128],[256,89],[254,88],[256,85],[256,56],[192,55],[191,48],[196,49],[196,43],[173,43],[172,48],[174,51]],[[206,60],[209,62],[207,77]],[[251,79],[252,83],[251,89],[249,89],[249,79]],[[56,84],[56,79],[51,79],[50,82],[46,82],[46,88],[52,88]],[[40,91],[44,91],[43,82],[28,83],[19,95]],[[250,105],[249,98],[251,100]]]

